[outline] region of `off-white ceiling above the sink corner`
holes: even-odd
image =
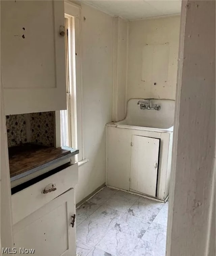
[[[127,20],[180,14],[181,0],[84,0],[105,13]]]

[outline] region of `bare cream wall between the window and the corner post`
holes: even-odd
[[[105,125],[112,120],[113,17],[81,4],[80,25],[83,140],[89,161],[79,167],[76,203],[105,183]]]

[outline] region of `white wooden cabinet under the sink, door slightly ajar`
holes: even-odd
[[[165,200],[172,132],[106,126],[106,185]]]

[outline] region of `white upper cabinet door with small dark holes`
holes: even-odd
[[[64,1],[1,1],[5,114],[66,109]]]

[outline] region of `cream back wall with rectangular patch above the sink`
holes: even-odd
[[[127,100],[130,98],[175,99],[179,31],[180,16],[130,22]],[[150,48],[153,45],[157,54],[152,62]],[[142,56],[143,47],[148,47],[144,56]]]

